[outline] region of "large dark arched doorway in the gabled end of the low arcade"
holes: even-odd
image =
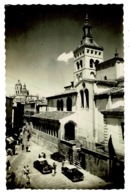
[[[65,140],[75,140],[75,123],[68,122],[65,124]]]

